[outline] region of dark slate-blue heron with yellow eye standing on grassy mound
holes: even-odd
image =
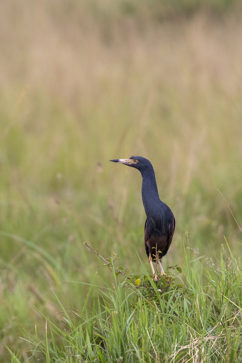
[[[146,214],[144,245],[151,265],[153,280],[158,280],[153,262],[158,264],[160,276],[166,275],[161,265],[161,258],[167,254],[171,245],[175,230],[175,217],[168,205],[160,200],[155,172],[148,159],[142,156],[130,156],[129,159],[114,159],[110,161],[138,169],[141,173],[141,195]]]

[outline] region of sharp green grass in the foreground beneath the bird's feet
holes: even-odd
[[[58,327],[24,339],[41,362],[239,362],[242,356],[242,270],[233,256],[189,259],[184,250],[182,278],[153,282],[144,275],[97,286],[95,277],[81,309],[66,311],[61,301]],[[115,256],[116,258],[116,256]],[[116,261],[117,262],[117,261]],[[143,265],[143,264],[142,264]],[[114,265],[113,265],[114,266]],[[143,265],[143,269],[145,267]],[[180,271],[180,268],[178,268]],[[131,280],[129,280],[131,278]],[[135,278],[140,278],[139,286]],[[81,284],[81,283],[80,283]],[[91,290],[99,295],[90,300]],[[19,360],[21,362],[21,359]],[[18,362],[12,353],[12,362]]]

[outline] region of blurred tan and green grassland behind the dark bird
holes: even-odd
[[[5,1],[0,12],[0,356],[23,328],[81,307],[100,261],[145,261],[141,176],[151,160],[176,217],[209,258],[241,252],[242,23],[236,1]],[[147,263],[148,265],[148,263]],[[110,274],[99,268],[99,276]],[[97,278],[97,282],[100,277]],[[102,281],[99,281],[102,284]],[[88,287],[87,287],[88,289]],[[32,307],[33,306],[33,307]],[[1,360],[1,358],[0,358]]]

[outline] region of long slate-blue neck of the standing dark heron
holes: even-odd
[[[153,167],[141,172],[142,181],[142,200],[144,210],[148,219],[153,220],[157,203],[160,202],[159,193],[157,189],[155,172]]]

